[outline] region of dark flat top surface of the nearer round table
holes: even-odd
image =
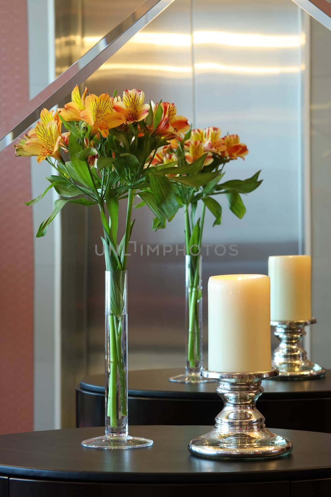
[[[154,440],[131,450],[87,449],[81,441],[104,428],[35,431],[0,436],[0,476],[118,483],[220,483],[331,477],[331,434],[275,429],[290,438],[287,457],[260,461],[210,461],[191,455],[190,439],[210,426],[130,426]]]

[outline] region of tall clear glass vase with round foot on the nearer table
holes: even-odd
[[[84,447],[132,449],[153,440],[128,434],[127,271],[105,272],[105,434]]]

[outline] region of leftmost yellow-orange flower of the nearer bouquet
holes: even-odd
[[[14,145],[15,156],[36,156],[38,163],[46,157],[61,161],[62,157],[59,152],[61,140],[61,120],[58,114],[53,116],[53,110],[43,109],[36,127],[24,135],[17,145]]]

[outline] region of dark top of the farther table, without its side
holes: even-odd
[[[129,371],[128,389],[131,397],[163,397],[186,399],[219,399],[215,392],[217,382],[188,385],[173,383],[170,376],[182,373],[182,369],[145,369]],[[263,399],[320,399],[331,397],[331,370],[324,378],[314,380],[262,381]],[[104,394],[104,375],[83,378],[80,387],[87,392]]]

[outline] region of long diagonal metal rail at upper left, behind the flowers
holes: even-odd
[[[155,19],[173,1],[146,0],[55,81],[32,98],[25,108],[25,115],[0,139],[0,152],[15,142],[22,133],[27,131],[40,118],[40,111],[44,107],[50,109],[57,105],[58,102],[71,93],[75,84],[81,84],[89,78],[132,36]]]

